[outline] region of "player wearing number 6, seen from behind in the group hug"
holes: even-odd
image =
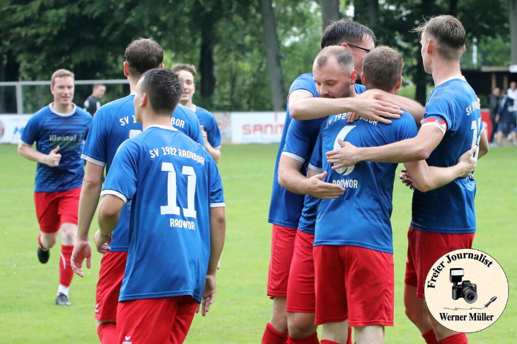
[[[349,63],[342,70],[351,68]],[[402,57],[386,46],[373,49],[364,58],[361,79],[368,89],[397,93],[402,84]],[[316,324],[323,324],[322,343],[344,343],[348,325],[355,327],[358,344],[383,342],[384,326],[393,325],[390,215],[397,164],[361,162],[332,169],[323,157],[338,145],[338,138],[358,146],[377,146],[413,137],[417,127],[408,113],[390,125],[365,117],[347,123],[346,117],[333,115],[323,122],[309,165],[309,176],[323,171],[324,181],[346,189],[338,198],[318,201],[314,237]],[[434,189],[467,176],[476,161],[469,156],[472,153],[474,149],[448,169],[428,167],[425,161],[406,163],[406,167],[415,185]]]

